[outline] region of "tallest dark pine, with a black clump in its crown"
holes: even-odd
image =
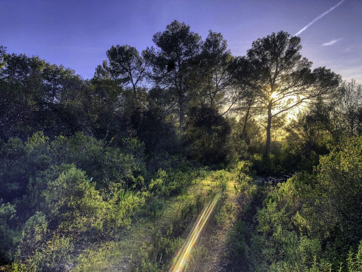
[[[197,61],[202,46],[201,37],[190,31],[190,26],[184,22],[175,20],[166,26],[164,32],[153,35],[152,41],[157,48],[151,47],[144,51],[145,57],[152,65],[152,79],[156,85],[171,91],[177,99],[182,130],[190,90],[202,78],[197,73],[199,64]]]

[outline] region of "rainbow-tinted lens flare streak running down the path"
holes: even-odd
[[[189,258],[193,247],[195,246],[198,236],[201,233],[203,227],[205,226],[207,219],[209,219],[210,214],[215,208],[216,203],[218,202],[219,195],[217,195],[214,200],[212,200],[209,205],[207,205],[199,217],[195,222],[190,234],[188,235],[187,239],[185,240],[184,245],[181,249],[177,252],[174,260],[173,265],[169,271],[171,272],[182,272],[187,267],[186,260]]]

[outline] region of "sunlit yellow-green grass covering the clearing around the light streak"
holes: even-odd
[[[183,189],[180,195],[167,199],[151,198],[144,209],[135,214],[131,227],[117,234],[119,237],[117,246],[102,254],[101,258],[93,258],[90,260],[91,264],[78,271],[113,271],[115,268],[124,269],[124,266],[126,266],[126,271],[135,270],[135,256],[144,242],[150,243],[153,229],[166,232],[173,225],[175,228],[173,235],[185,239],[193,226],[193,218],[200,213],[207,199],[214,197],[218,192],[223,194],[222,201],[219,201],[212,222],[208,223],[209,226],[206,228],[212,230],[219,226],[222,229],[228,225],[228,218],[235,210],[230,201],[230,199],[235,199],[233,189],[235,177],[234,173],[223,170],[208,173],[203,171],[199,177],[193,177],[193,180],[189,182],[189,187]],[[229,186],[230,184],[232,186]],[[128,193],[127,190],[124,193]],[[209,229],[205,230],[203,235],[207,236],[209,232]],[[225,233],[220,235],[219,232],[215,232],[211,235],[213,242],[211,244],[200,242],[198,249],[203,250],[195,250],[194,256],[191,257],[195,267],[197,267],[195,260],[208,258],[205,252],[215,244],[215,241],[224,240]],[[207,240],[209,238],[203,239],[203,241]],[[222,255],[224,256],[224,253]]]

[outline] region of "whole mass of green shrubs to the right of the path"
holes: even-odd
[[[238,223],[230,234],[232,252],[245,260],[245,269],[358,271],[359,253],[350,248],[361,250],[361,146],[361,137],[347,139],[321,156],[316,175],[298,173],[268,189],[254,226]],[[244,200],[257,194],[242,172],[235,189]]]

